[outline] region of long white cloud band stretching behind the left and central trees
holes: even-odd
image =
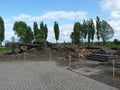
[[[73,29],[73,25],[69,24],[69,22],[67,22],[67,20],[73,20],[73,21],[80,20],[80,19],[85,18],[86,15],[87,15],[87,13],[82,12],[82,11],[78,11],[78,12],[51,11],[51,12],[46,12],[41,16],[31,16],[31,15],[27,15],[27,14],[20,14],[20,15],[13,16],[10,18],[6,18],[5,19],[5,28],[6,28],[5,40],[11,40],[11,37],[15,36],[14,32],[12,30],[13,24],[15,21],[25,21],[28,25],[31,26],[31,25],[33,25],[34,21],[37,21],[37,22],[40,22],[42,20],[49,21],[49,19],[50,19],[50,21],[53,21],[53,20],[57,19],[59,22],[59,21],[61,21],[61,19],[62,20],[66,19],[66,21],[64,22],[65,23],[64,25],[59,25],[59,28],[60,28],[59,42],[63,42],[63,41],[69,42],[70,34]],[[46,24],[48,25],[48,29],[49,29],[48,41],[55,42],[53,26],[51,26],[50,22],[48,22]]]

